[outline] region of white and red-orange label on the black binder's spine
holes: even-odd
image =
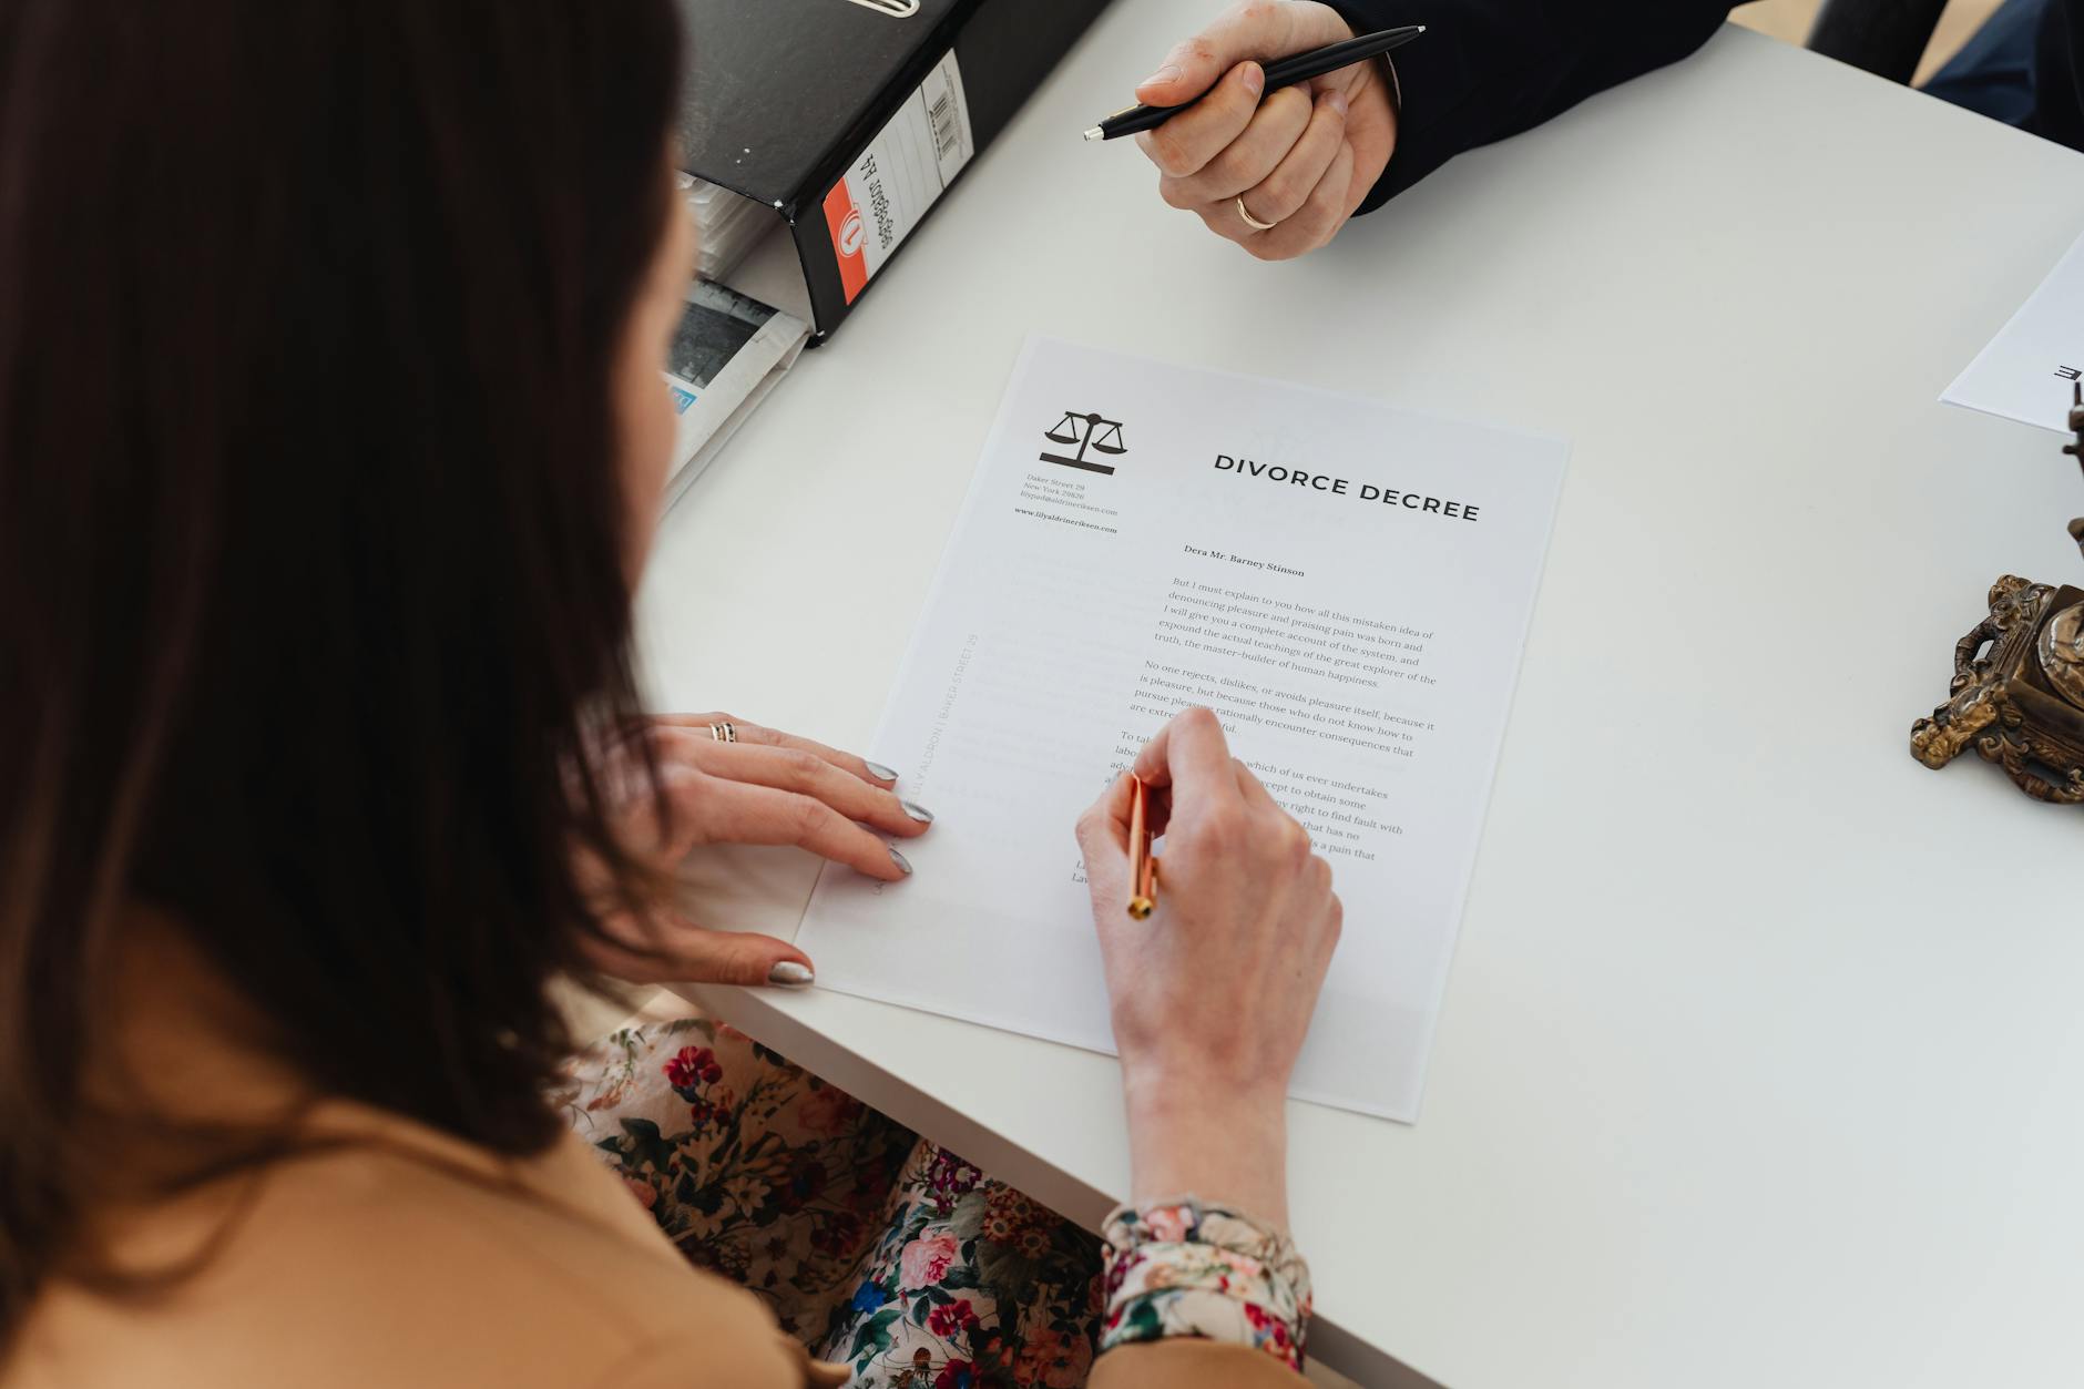
[[[950,50],[825,192],[825,227],[846,302],[854,302],[975,152],[963,69]]]

